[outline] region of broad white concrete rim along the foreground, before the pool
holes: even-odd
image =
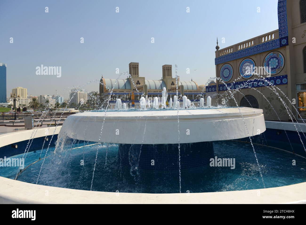
[[[305,204],[305,189],[306,182],[242,191],[140,194],[59,188],[0,177],[0,204]]]

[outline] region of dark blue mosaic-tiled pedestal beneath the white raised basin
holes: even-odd
[[[179,170],[177,149],[177,144],[120,144],[118,160],[126,168],[132,165],[151,172],[176,172]],[[208,166],[214,157],[213,142],[180,144],[180,150],[182,170]],[[154,165],[151,160],[154,160]]]

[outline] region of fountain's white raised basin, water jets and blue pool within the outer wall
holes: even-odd
[[[229,90],[229,93],[234,91],[239,92]],[[266,151],[260,151],[251,139],[253,136],[265,138],[261,135],[266,131],[262,109],[212,106],[210,96],[206,106],[204,98],[200,98],[197,105],[187,96],[178,98],[178,93],[173,96],[173,101],[169,98],[167,105],[167,96],[163,88],[160,102],[155,97],[152,107],[145,96],[140,98],[138,109],[127,109],[126,103],[117,98],[115,109],[108,109],[109,101],[105,101],[107,106],[103,110],[69,116],[57,138],[54,136],[55,147],[50,146],[54,132],[51,138],[48,136],[50,142],[47,142],[47,136],[43,140],[47,149],[42,148],[38,153],[29,152],[32,142],[28,141],[24,158],[32,160],[28,167],[36,169],[32,175],[26,169],[28,167],[22,172],[18,170],[14,178],[73,189],[142,193],[280,186],[267,176],[266,166],[271,161],[263,154],[273,150],[261,145]],[[226,101],[228,98],[231,95],[226,96]],[[33,131],[33,137],[35,134]],[[250,144],[233,140],[248,140]],[[278,152],[274,151],[273,154],[277,155]],[[233,159],[229,161],[229,170],[219,168],[218,161],[224,161],[223,157],[225,160]],[[281,163],[277,161],[281,158],[283,155],[273,158],[276,160],[274,163]],[[80,160],[84,164],[80,165]],[[304,162],[299,163],[302,165]],[[298,172],[296,170],[294,174]],[[2,174],[9,177],[11,172]],[[283,171],[278,176],[281,174]],[[284,182],[283,177],[287,175],[279,177],[276,180]],[[301,176],[298,181],[303,179]],[[247,183],[247,188],[244,183]],[[289,179],[285,185],[293,183]]]

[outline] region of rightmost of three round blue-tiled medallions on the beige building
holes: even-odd
[[[280,52],[270,52],[267,54],[263,61],[264,70],[271,74],[276,75],[282,71],[285,65],[285,58]]]

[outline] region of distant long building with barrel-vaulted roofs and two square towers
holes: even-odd
[[[139,63],[129,63],[130,77],[126,79],[106,79],[102,76],[99,86],[100,100],[107,101],[110,98],[110,104],[113,106],[114,101],[120,98],[122,102],[130,102],[132,92],[135,95],[135,105],[139,105],[142,95],[146,99],[154,99],[162,97],[162,90],[165,87],[168,93],[168,100],[176,95],[176,78],[172,76],[172,65],[162,66],[162,79],[147,80],[144,76],[140,76]],[[205,85],[198,85],[195,81],[181,81],[178,79],[178,94],[186,95],[192,102],[197,102],[201,97],[205,97]],[[134,82],[134,83],[133,83]],[[110,96],[111,90],[113,94]],[[152,102],[152,101],[151,101]]]

